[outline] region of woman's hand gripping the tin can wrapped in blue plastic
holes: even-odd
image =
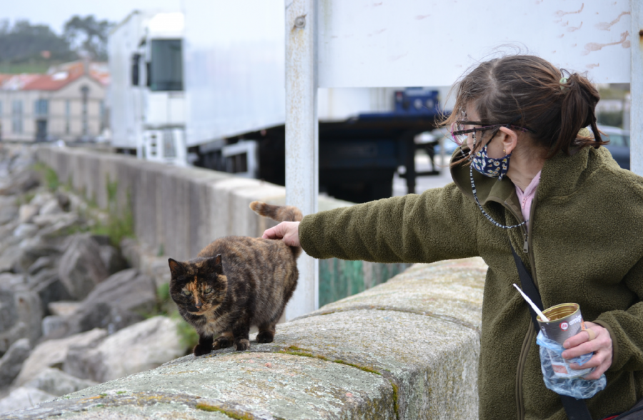
[[[563,351],[562,356],[564,359],[572,359],[594,351],[592,359],[589,359],[583,366],[574,363],[570,364],[569,367],[572,369],[596,367],[591,374],[584,376],[583,379],[599,379],[604,371],[607,371],[609,366],[612,366],[612,337],[609,336],[609,331],[599,324],[586,322],[585,328],[594,331],[596,337],[590,340],[591,333],[580,331],[575,336],[565,340],[563,347],[567,350]]]

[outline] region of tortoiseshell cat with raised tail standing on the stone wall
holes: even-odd
[[[253,201],[250,208],[276,221],[301,221],[293,206]],[[179,313],[199,333],[194,356],[234,343],[250,347],[250,326],[256,341],[271,343],[275,324],[297,285],[296,259],[301,247],[274,239],[225,236],[186,262],[169,259],[170,295]]]

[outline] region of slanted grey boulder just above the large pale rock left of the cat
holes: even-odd
[[[119,271],[91,291],[70,317],[70,334],[104,328],[111,334],[144,319],[156,307],[156,288],[150,276],[136,269]]]

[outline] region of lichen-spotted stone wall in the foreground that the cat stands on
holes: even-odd
[[[476,419],[486,271],[417,264],[279,324],[271,344],[185,356],[4,419]]]

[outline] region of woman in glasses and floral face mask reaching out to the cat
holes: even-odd
[[[545,308],[576,302],[592,321],[563,354],[594,351],[587,379],[607,376],[587,400],[592,418],[626,411],[643,396],[643,179],[601,147],[598,100],[584,76],[564,78],[538,57],[484,62],[459,81],[444,122],[462,144],[452,184],[285,222],[264,238],[300,243],[320,259],[482,256],[480,419],[566,419],[544,386],[537,331],[512,287],[520,282],[511,244]]]

